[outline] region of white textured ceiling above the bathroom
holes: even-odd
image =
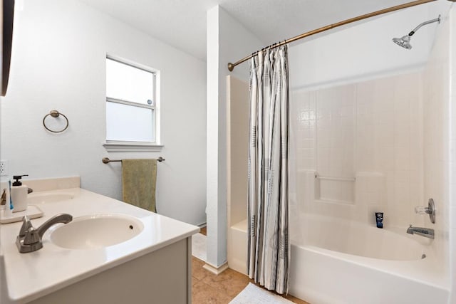
[[[206,58],[206,11],[219,4],[266,45],[407,0],[80,0]],[[134,4],[134,5],[133,5]]]

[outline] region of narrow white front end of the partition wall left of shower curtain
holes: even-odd
[[[207,11],[207,268],[227,263],[226,100],[219,88],[219,6]]]

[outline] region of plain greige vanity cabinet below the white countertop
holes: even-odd
[[[191,304],[191,244],[177,241],[30,303]]]

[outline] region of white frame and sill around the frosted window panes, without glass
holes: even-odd
[[[107,135],[107,125],[105,124],[105,142],[103,142],[103,147],[108,152],[156,152],[161,151],[163,145],[160,144],[160,70],[155,70],[148,66],[142,65],[140,63],[135,63],[125,58],[120,58],[118,56],[113,56],[111,54],[106,54],[105,56],[105,70],[106,63],[108,60],[117,61],[125,65],[130,65],[133,68],[138,68],[144,70],[147,73],[152,73],[153,75],[153,100],[152,105],[144,105],[141,103],[133,103],[128,100],[121,100],[117,98],[110,98],[106,95],[105,87],[105,115],[106,115],[106,105],[108,103],[118,103],[122,105],[130,105],[138,108],[146,108],[153,110],[154,112],[154,140],[153,142],[135,142],[128,140],[108,140]],[[105,77],[107,74],[105,72]],[[106,80],[106,79],[105,79]],[[106,84],[106,81],[105,81]]]

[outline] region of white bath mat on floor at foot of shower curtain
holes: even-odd
[[[239,293],[229,304],[292,304],[290,300],[274,295],[266,289],[260,288],[255,284],[249,283],[244,290]]]

